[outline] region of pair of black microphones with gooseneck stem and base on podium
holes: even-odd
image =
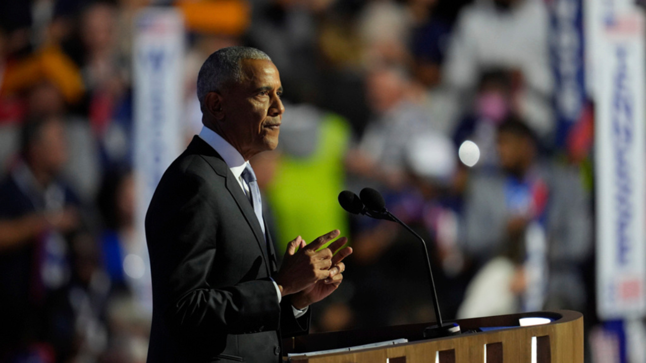
[[[431,287],[431,299],[433,302],[433,309],[435,310],[435,318],[437,324],[426,327],[424,329],[424,338],[439,338],[448,337],[450,335],[460,334],[460,326],[455,322],[444,323],[440,313],[440,307],[437,302],[437,291],[435,290],[435,282],[433,281],[433,271],[431,269],[431,260],[428,256],[428,247],[424,239],[415,233],[411,227],[402,222],[394,214],[386,209],[386,202],[380,192],[372,188],[364,188],[359,193],[359,196],[351,191],[342,191],[339,193],[339,204],[343,209],[352,214],[362,214],[379,220],[388,220],[391,222],[399,223],[417,237],[422,246],[424,247],[424,256],[426,256],[426,265],[428,266],[428,280]]]

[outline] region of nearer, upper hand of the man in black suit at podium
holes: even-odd
[[[337,238],[339,234],[339,230],[335,229],[307,245],[300,236],[289,242],[280,271],[274,278],[282,296],[298,293],[318,280],[329,277],[328,270],[332,266],[332,256],[348,242],[348,238],[341,237],[327,248],[317,250]],[[298,252],[297,247],[299,247]]]

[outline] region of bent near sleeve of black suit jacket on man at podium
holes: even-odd
[[[227,274],[215,265],[223,217],[213,192],[213,181],[185,172],[163,178],[152,198],[147,243],[165,320],[189,339],[278,329],[280,305],[269,278],[209,284],[218,280],[211,274]]]

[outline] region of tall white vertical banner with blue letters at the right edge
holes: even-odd
[[[594,47],[598,314],[646,315],[646,57],[644,16],[598,3]]]

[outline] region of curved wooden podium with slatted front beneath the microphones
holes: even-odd
[[[552,321],[519,326],[519,319],[526,317]],[[532,363],[534,356],[537,363],[583,363],[583,315],[576,311],[490,316],[457,320],[457,323],[463,331],[461,335],[430,340],[424,340],[422,332],[433,323],[303,335],[283,340],[284,355],[406,338],[407,343],[290,360],[294,363]]]

